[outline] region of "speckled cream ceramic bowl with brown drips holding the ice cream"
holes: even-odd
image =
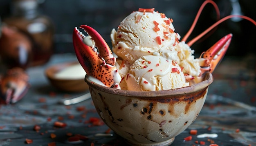
[[[130,145],[169,145],[192,124],[207,96],[211,73],[202,82],[164,91],[126,91],[92,82],[88,75],[94,106],[103,121]]]

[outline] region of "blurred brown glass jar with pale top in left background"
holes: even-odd
[[[31,38],[31,66],[41,65],[49,60],[53,53],[54,25],[47,16],[38,13],[37,0],[13,0],[11,16],[3,22]]]

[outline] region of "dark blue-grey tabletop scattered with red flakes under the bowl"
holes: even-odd
[[[45,69],[53,64],[76,61],[72,53],[52,56],[43,65],[27,70],[31,87],[25,97],[13,105],[0,106],[0,146],[47,146],[54,142],[56,146],[95,146],[108,144],[124,146],[125,141],[113,131],[109,132],[105,124],[95,126],[90,118],[99,118],[92,100],[86,100],[69,106],[58,104],[58,100],[81,93],[58,91],[45,77]],[[175,137],[171,146],[198,146],[195,142],[218,146],[255,146],[256,145],[256,65],[255,56],[246,58],[225,57],[213,73],[214,81],[209,86],[207,100],[198,118],[186,131]],[[67,126],[60,128],[54,122],[63,122]],[[34,126],[40,126],[35,131]],[[197,138],[184,141],[190,136],[191,129],[197,134],[216,133],[216,138]],[[68,135],[80,134],[88,139],[80,142],[68,142]],[[52,138],[52,136],[56,136]],[[25,140],[33,140],[26,144]]]

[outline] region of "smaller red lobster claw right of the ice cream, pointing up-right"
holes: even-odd
[[[199,64],[201,66],[200,76],[205,72],[212,73],[214,71],[227,52],[232,36],[233,35],[231,33],[224,36],[213,46],[211,46],[210,49],[201,54],[199,58]]]

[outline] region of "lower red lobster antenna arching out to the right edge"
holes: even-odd
[[[214,27],[218,26],[220,23],[224,22],[225,20],[228,20],[230,18],[243,18],[245,20],[249,20],[250,22],[252,22],[255,26],[256,26],[256,21],[254,21],[252,18],[249,18],[247,16],[244,15],[228,15],[220,20],[218,20],[216,23],[214,23],[213,25],[211,25],[211,27],[209,27],[208,29],[206,29],[205,31],[203,31],[202,33],[200,33],[198,36],[196,36],[195,38],[193,38],[191,41],[189,41],[187,44],[189,46],[192,46],[196,41],[198,41],[200,38],[202,38],[202,36],[204,36],[206,33],[208,33],[209,31],[211,31]]]

